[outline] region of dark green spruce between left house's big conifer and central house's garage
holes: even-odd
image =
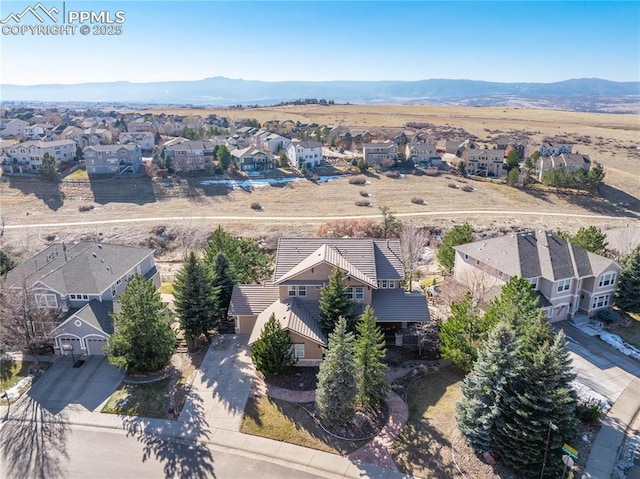
[[[220,318],[220,286],[213,284],[207,267],[191,252],[176,275],[173,289],[180,326],[191,346]]]

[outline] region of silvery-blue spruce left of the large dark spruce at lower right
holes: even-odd
[[[520,370],[517,342],[511,328],[498,324],[478,354],[473,371],[462,381],[456,404],[458,429],[477,452],[493,450],[493,435],[508,391]]]

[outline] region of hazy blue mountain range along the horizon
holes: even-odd
[[[110,102],[162,105],[272,105],[298,98],[336,103],[537,106],[600,111],[602,105],[640,102],[640,82],[598,78],[555,83],[497,83],[474,80],[286,81],[225,77],[150,83],[109,82],[76,85],[1,85],[3,102]],[[599,106],[600,105],[600,106]],[[615,110],[615,108],[614,108]]]

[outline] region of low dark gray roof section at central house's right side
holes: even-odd
[[[378,322],[426,322],[429,308],[426,296],[419,293],[405,293],[402,289],[379,289],[373,292],[371,307]]]

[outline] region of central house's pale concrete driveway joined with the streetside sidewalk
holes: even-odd
[[[99,407],[93,411],[68,408],[65,413],[67,422],[79,427],[105,428],[111,433],[138,438],[162,436],[195,441],[214,451],[268,461],[329,479],[411,478],[361,460],[240,433],[240,421],[253,377],[246,335],[229,335],[212,342],[187,402],[175,421],[103,414]],[[23,395],[12,409],[28,399]],[[4,417],[6,409],[0,408],[0,417]]]

